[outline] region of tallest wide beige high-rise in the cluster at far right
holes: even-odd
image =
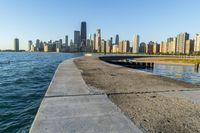
[[[189,34],[187,32],[178,34],[177,53],[185,53],[186,40],[189,40]]]

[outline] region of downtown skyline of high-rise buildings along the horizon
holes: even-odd
[[[169,37],[160,43],[150,41],[142,42],[139,35],[134,35],[133,40],[122,40],[120,35],[115,38],[103,39],[101,29],[96,33],[87,36],[87,23],[81,22],[80,31],[74,31],[74,39],[56,41],[42,41],[37,39],[35,43],[28,41],[28,51],[30,52],[92,52],[92,53],[124,53],[124,54],[182,54],[200,55],[200,33],[193,39],[187,32],[178,34],[176,37]],[[132,42],[132,45],[131,45]],[[14,51],[19,51],[19,39],[14,39]]]

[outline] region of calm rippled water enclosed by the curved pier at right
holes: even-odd
[[[153,70],[146,70],[189,83],[200,84],[200,72],[194,71],[194,66],[155,64]]]

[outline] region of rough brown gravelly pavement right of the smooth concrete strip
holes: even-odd
[[[94,91],[105,92],[146,132],[200,132],[200,105],[161,93],[200,90],[199,85],[82,57],[75,64]]]

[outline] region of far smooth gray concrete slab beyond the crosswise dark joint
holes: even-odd
[[[62,62],[49,85],[45,96],[65,96],[90,94],[90,91],[81,76],[81,71],[73,60]]]

